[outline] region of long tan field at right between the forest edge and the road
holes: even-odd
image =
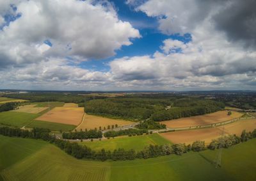
[[[205,114],[201,116],[191,116],[189,118],[180,118],[177,120],[169,120],[161,122],[168,128],[190,127],[197,125],[207,125],[211,123],[225,122],[234,118],[239,118],[243,113],[237,113],[232,111],[232,114],[228,116],[228,111],[218,111],[216,113]]]

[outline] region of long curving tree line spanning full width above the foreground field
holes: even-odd
[[[223,138],[215,139],[212,143],[206,147],[204,141],[195,141],[192,145],[175,144],[175,145],[149,145],[145,146],[141,151],[124,150],[122,148],[116,149],[113,152],[109,150],[96,151],[88,148],[85,145],[79,145],[78,143],[71,143],[63,139],[56,139],[55,135],[50,132],[49,129],[33,129],[22,130],[10,127],[0,127],[0,134],[4,136],[15,136],[20,138],[33,138],[43,139],[53,143],[54,145],[64,150],[69,155],[76,157],[77,159],[95,159],[100,161],[106,161],[108,159],[113,161],[119,160],[133,160],[133,159],[148,159],[152,157],[159,157],[162,155],[182,155],[190,151],[200,152],[207,148],[214,150],[216,148],[228,148],[229,146],[236,145],[237,143],[247,141],[248,139],[256,138],[256,129],[253,132],[242,132],[241,137],[237,136],[225,136]]]

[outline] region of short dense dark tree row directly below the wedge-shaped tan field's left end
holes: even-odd
[[[63,132],[63,139],[92,139],[102,138],[102,132],[100,130],[81,130],[75,132]]]

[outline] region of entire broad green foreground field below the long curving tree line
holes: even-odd
[[[0,173],[4,180],[255,180],[256,139],[223,150],[190,152],[134,161],[83,161],[35,139],[0,136]],[[7,156],[6,156],[7,155]],[[1,179],[0,179],[1,180]]]

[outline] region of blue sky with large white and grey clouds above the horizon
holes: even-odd
[[[0,89],[256,90],[255,0],[0,0]]]

